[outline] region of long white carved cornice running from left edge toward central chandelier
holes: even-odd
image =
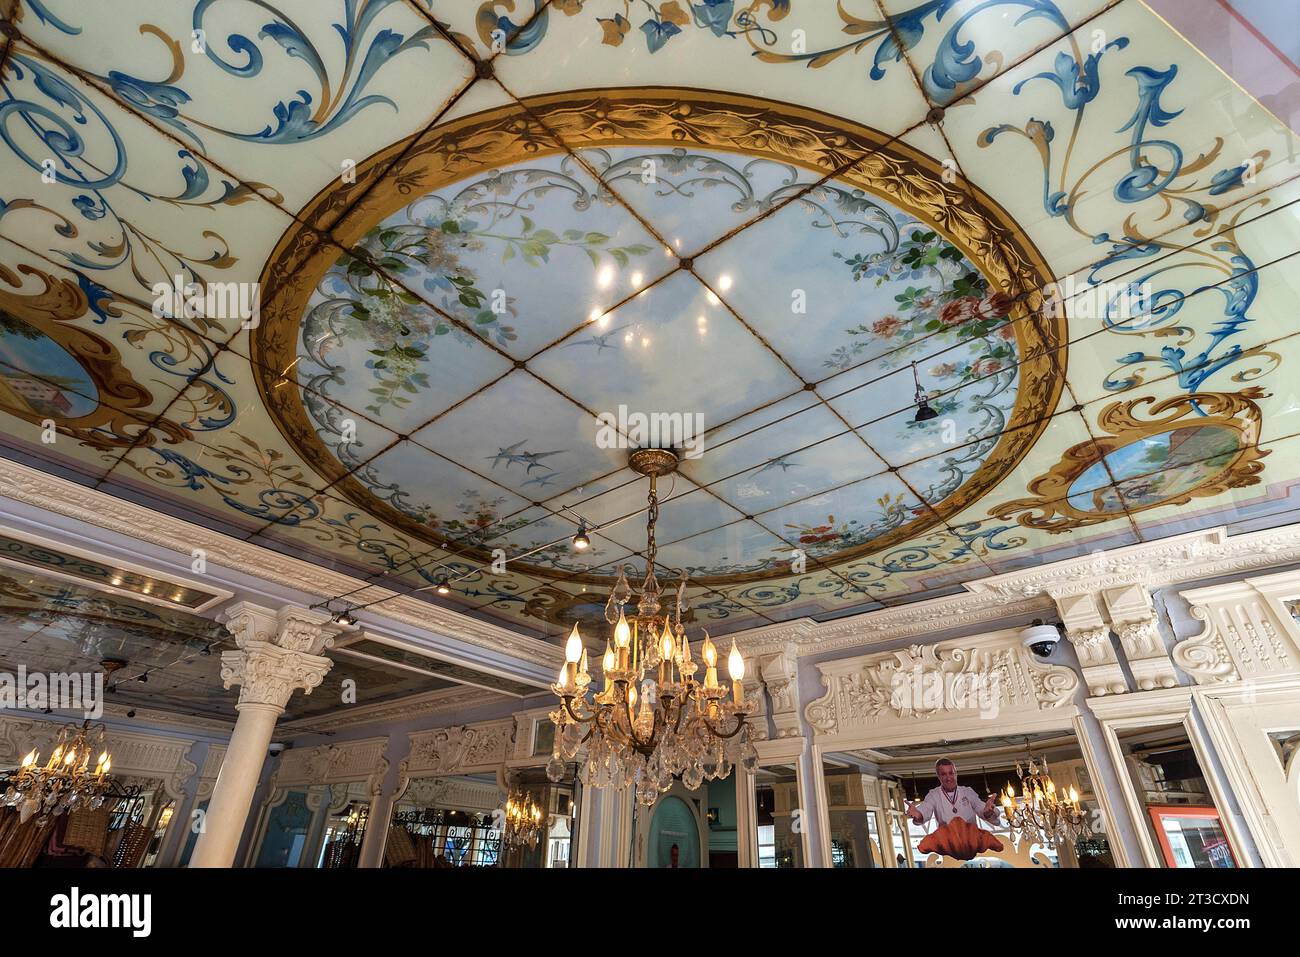
[[[17,462],[0,459],[0,495],[148,542],[166,551],[176,551],[177,544],[185,542],[191,549],[203,549],[208,553],[209,568],[220,564],[304,594],[329,598],[355,592],[352,597],[358,601],[384,599],[382,611],[370,610],[367,614],[400,623],[407,628],[437,632],[469,645],[514,655],[542,664],[547,670],[559,668],[564,659],[562,649],[545,641],[378,585],[368,585],[350,575],[231,538]]]

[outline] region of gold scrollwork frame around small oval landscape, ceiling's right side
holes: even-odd
[[[1264,471],[1264,463],[1260,459],[1266,456],[1269,451],[1258,447],[1261,415],[1260,407],[1252,399],[1264,395],[1262,389],[1252,386],[1239,393],[1192,393],[1174,395],[1160,402],[1147,395],[1140,399],[1112,403],[1097,416],[1097,425],[1110,433],[1109,438],[1071,446],[1046,475],[1030,482],[1031,498],[1005,502],[991,508],[989,515],[1004,521],[1014,518],[1026,528],[1041,528],[1060,533],[1102,521],[1113,521],[1126,512],[1184,505],[1193,498],[1217,495],[1227,489],[1254,485],[1260,481],[1258,473]],[[1144,406],[1149,406],[1149,408],[1144,408]],[[1108,455],[1150,436],[1190,425],[1230,428],[1240,437],[1236,454],[1204,482],[1157,502],[1139,506],[1128,506],[1126,502],[1119,511],[1084,511],[1076,508],[1070,501],[1070,489],[1079,476],[1098,462],[1104,462]],[[1152,475],[1164,469],[1154,469]],[[1131,481],[1136,477],[1140,476],[1127,476],[1119,481]],[[1114,488],[1114,484],[1113,478],[1112,484],[1093,492]],[[1079,494],[1087,493],[1075,493],[1075,497]]]

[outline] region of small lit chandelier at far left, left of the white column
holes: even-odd
[[[39,813],[38,823],[42,826],[49,815],[57,817],[78,805],[103,805],[104,792],[110,784],[108,771],[113,765],[104,736],[104,726],[92,727],[90,722],[60,728],[49,761],[42,765],[35,748],[22,759],[4,792],[4,804],[18,809],[22,823]],[[90,762],[96,752],[99,759],[92,771]]]

